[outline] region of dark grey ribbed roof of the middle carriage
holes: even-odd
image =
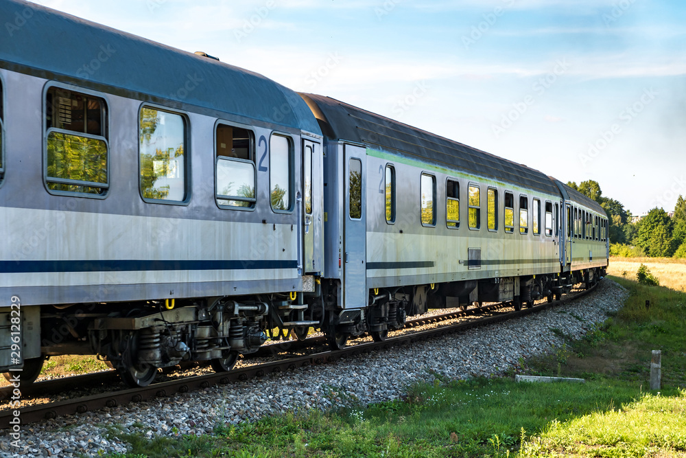
[[[300,95],[313,109],[324,136],[329,139],[354,141],[404,156],[428,159],[440,166],[448,165],[475,175],[519,183],[550,194],[560,194],[553,179],[525,165],[333,98],[316,94]]]

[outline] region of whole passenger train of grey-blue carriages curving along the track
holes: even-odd
[[[608,264],[537,170],[21,0],[0,0],[0,371],[97,354],[132,386],[268,334],[341,348],[514,308]]]

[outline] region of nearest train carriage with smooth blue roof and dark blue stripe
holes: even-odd
[[[0,371],[98,353],[145,385],[182,359],[229,368],[265,319],[297,319],[289,297],[314,290],[324,236],[305,102],[32,3],[0,16],[23,18],[0,41],[0,295],[24,323],[13,361],[0,310]]]

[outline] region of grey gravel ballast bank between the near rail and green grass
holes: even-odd
[[[559,336],[579,339],[622,308],[626,290],[605,279],[597,290],[565,306],[504,323],[450,334],[259,379],[211,387],[170,398],[104,409],[23,425],[19,444],[10,446],[2,431],[0,457],[97,457],[126,453],[126,443],[111,433],[139,432],[147,437],[212,433],[217,424],[237,424],[298,409],[359,406],[399,398],[415,382],[499,376],[520,358],[554,352]],[[144,426],[141,426],[144,425]]]

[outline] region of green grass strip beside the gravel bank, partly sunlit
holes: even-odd
[[[686,457],[686,295],[617,279],[626,307],[581,341],[524,363],[534,374],[585,384],[511,378],[440,380],[363,409],[309,411],[213,435],[116,435],[126,457]],[[645,301],[651,301],[646,310]],[[663,352],[663,389],[647,390],[650,350]],[[121,455],[111,455],[118,457]]]

